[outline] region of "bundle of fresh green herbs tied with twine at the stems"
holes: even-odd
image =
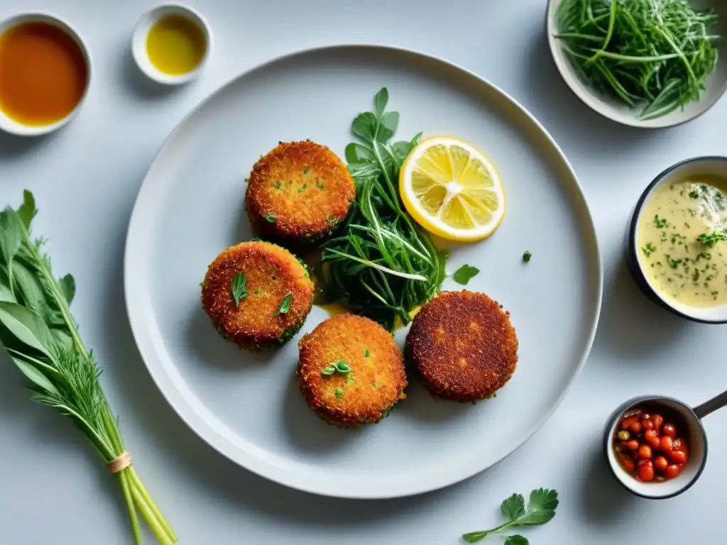
[[[142,542],[138,510],[160,544],[173,544],[174,530],[128,465],[119,426],[99,383],[100,370],[71,316],[73,277],[55,278],[42,253],[43,241],[31,238],[36,213],[29,191],[19,209],[7,207],[0,213],[2,347],[28,378],[33,399],[70,417],[104,463],[110,464],[129,508],[136,543]]]

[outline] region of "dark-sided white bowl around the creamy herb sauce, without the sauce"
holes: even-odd
[[[643,221],[643,209],[648,198],[654,194],[662,185],[681,182],[684,179],[692,177],[718,177],[726,180],[727,183],[727,157],[721,156],[704,156],[686,159],[681,161],[659,174],[652,181],[636,203],[627,237],[626,263],[628,269],[636,283],[643,291],[648,299],[675,315],[687,320],[700,323],[727,323],[727,304],[716,307],[692,307],[683,304],[675,299],[664,296],[659,290],[648,280],[643,271],[643,262],[640,260],[638,249],[638,227]]]

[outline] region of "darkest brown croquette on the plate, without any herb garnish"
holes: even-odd
[[[414,316],[406,356],[434,395],[474,402],[513,376],[518,337],[510,313],[485,294],[443,291]]]

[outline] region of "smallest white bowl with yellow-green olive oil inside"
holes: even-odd
[[[134,28],[134,60],[146,76],[160,84],[192,81],[211,50],[212,33],[204,17],[180,4],[152,9]]]

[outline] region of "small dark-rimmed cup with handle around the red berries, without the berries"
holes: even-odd
[[[640,405],[662,406],[672,413],[677,413],[686,425],[689,459],[680,474],[673,479],[644,483],[630,475],[616,459],[616,452],[614,451],[616,427],[619,425],[624,413]],[[709,401],[694,408],[673,397],[659,395],[633,397],[619,405],[606,421],[606,429],[603,432],[603,453],[606,456],[608,467],[616,480],[636,496],[649,499],[666,499],[678,496],[696,483],[696,480],[704,471],[704,465],[707,463],[707,432],[704,430],[702,419],[725,405],[727,405],[727,392],[712,397]]]

